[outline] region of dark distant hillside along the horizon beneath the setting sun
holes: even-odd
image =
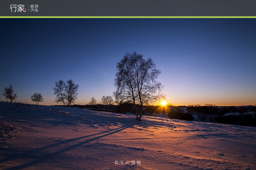
[[[57,105],[56,105],[57,106]],[[60,106],[60,105],[58,105]],[[107,111],[113,113],[133,113],[133,104],[122,105],[72,105],[72,107],[88,110]],[[140,105],[136,105],[137,108]],[[215,106],[215,105],[189,105],[189,106],[144,106],[143,115],[165,114],[164,117],[187,121],[219,122],[256,127],[256,106]]]

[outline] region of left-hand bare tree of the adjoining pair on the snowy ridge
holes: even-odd
[[[54,95],[56,95],[56,98],[54,99],[54,102],[56,103],[63,103],[63,105],[65,106],[65,82],[63,80],[59,80],[59,82],[55,82],[55,87],[53,87],[54,89]]]

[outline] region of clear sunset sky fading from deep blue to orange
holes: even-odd
[[[79,84],[76,104],[115,90],[126,52],[152,58],[167,103],[256,104],[256,19],[0,19],[0,91],[54,105],[54,83]],[[0,100],[5,100],[1,95]]]

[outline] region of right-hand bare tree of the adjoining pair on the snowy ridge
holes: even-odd
[[[74,84],[73,80],[68,80],[67,84],[64,86],[64,91],[65,91],[65,99],[67,101],[67,105],[71,107],[71,104],[75,102],[77,99],[77,91],[78,91],[78,84]]]

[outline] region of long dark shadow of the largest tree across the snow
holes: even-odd
[[[75,145],[72,145],[72,146],[69,146],[67,148],[64,148],[62,150],[59,150],[59,151],[56,151],[54,153],[43,153],[43,155],[40,155],[38,156],[38,158],[36,158],[36,160],[32,161],[32,162],[28,162],[28,163],[25,163],[24,165],[19,165],[19,166],[16,166],[16,167],[12,167],[12,168],[7,168],[6,170],[17,170],[17,169],[22,169],[22,168],[27,168],[27,167],[30,167],[30,166],[33,166],[33,165],[36,165],[38,163],[42,163],[46,160],[49,160],[49,159],[53,159],[54,157],[60,155],[61,153],[64,153],[66,151],[69,151],[69,150],[72,150],[78,146],[81,146],[81,145],[84,145],[86,143],[89,143],[91,141],[94,141],[94,140],[97,140],[97,139],[100,139],[100,138],[103,138],[105,136],[109,136],[111,134],[114,134],[114,133],[117,133],[119,131],[122,131],[124,129],[127,129],[129,128],[130,126],[121,126],[119,128],[116,128],[116,129],[111,129],[111,130],[108,130],[108,131],[104,131],[104,132],[101,132],[101,133],[97,133],[97,134],[91,134],[91,135],[87,135],[87,136],[82,136],[82,137],[79,137],[79,138],[74,138],[74,139],[68,139],[68,140],[65,140],[65,141],[61,141],[59,143],[54,143],[52,145],[48,145],[48,146],[44,146],[44,147],[41,147],[41,148],[37,148],[35,150],[29,150],[29,151],[24,151],[22,153],[19,153],[19,154],[16,154],[16,155],[9,155],[11,156],[11,158],[5,158],[3,160],[0,160],[0,163],[2,162],[6,162],[6,161],[10,161],[10,160],[14,160],[14,159],[19,159],[19,158],[24,158],[24,156],[26,155],[31,155],[31,159],[35,158],[35,155],[34,153],[38,152],[38,151],[42,151],[42,150],[46,150],[48,148],[53,148],[55,146],[59,146],[59,145],[63,145],[65,143],[69,143],[69,142],[72,142],[72,141],[76,141],[78,139],[83,139],[83,138],[88,138],[90,136],[96,136],[96,135],[100,135],[100,134],[103,134],[101,136],[97,136],[95,138],[92,138],[92,139],[88,139],[86,141],[82,141],[80,143],[77,143]],[[104,134],[104,133],[107,133],[107,134]]]

